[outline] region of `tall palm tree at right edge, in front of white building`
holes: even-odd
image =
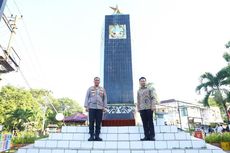
[[[230,102],[230,92],[228,90],[228,85],[230,84],[230,67],[227,66],[221,69],[216,75],[206,72],[200,76],[200,79],[201,83],[196,87],[196,91],[200,93],[203,90],[205,92],[202,103],[204,106],[209,106],[209,97],[214,97],[223,106],[229,123],[226,104]]]

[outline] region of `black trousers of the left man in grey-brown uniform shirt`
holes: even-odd
[[[101,121],[103,111],[101,109],[89,109],[89,133],[99,136],[101,132]],[[94,123],[96,122],[96,129],[94,132]]]

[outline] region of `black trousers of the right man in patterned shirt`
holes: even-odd
[[[153,125],[153,111],[151,109],[141,110],[140,115],[144,127],[145,137],[154,138],[155,130]]]

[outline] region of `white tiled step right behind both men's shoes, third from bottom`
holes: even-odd
[[[100,134],[100,137],[104,141],[116,141],[116,140],[140,140],[140,138],[144,137],[143,133],[112,133]],[[50,133],[49,139],[51,140],[88,140],[89,134],[88,133]],[[191,140],[191,136],[189,133],[178,132],[178,133],[156,133],[155,135],[156,140]]]

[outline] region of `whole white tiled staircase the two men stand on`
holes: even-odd
[[[102,127],[103,141],[87,141],[88,127],[64,126],[61,133],[18,150],[18,153],[224,153],[176,126],[155,126],[156,141],[140,141],[142,126]]]

